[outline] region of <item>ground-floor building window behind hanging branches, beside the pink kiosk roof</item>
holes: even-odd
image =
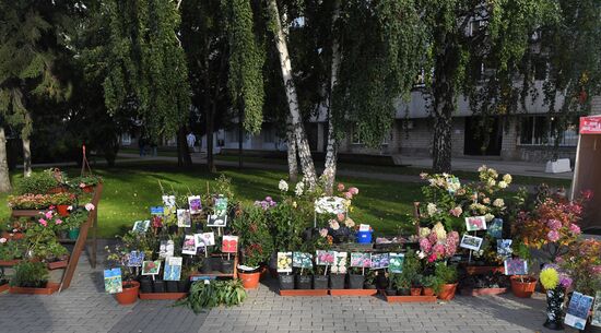
[[[553,145],[555,121],[553,117],[530,116],[522,117],[520,124],[520,144],[522,145]],[[578,144],[578,121],[570,121],[566,130],[559,134],[561,146],[576,146]]]

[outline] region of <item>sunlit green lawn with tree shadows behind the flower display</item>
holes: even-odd
[[[196,193],[207,192],[207,182],[211,183],[219,175],[208,174],[203,168],[196,166],[182,169],[176,164],[163,162],[123,162],[114,168],[94,169],[105,180],[98,207],[99,236],[113,237],[121,234],[134,221],[148,217],[150,206],[161,204],[158,180],[167,189],[173,186],[179,192],[187,192],[188,188]],[[235,168],[221,170],[232,178],[237,199],[247,203],[261,200],[266,195],[278,200],[278,181],[286,177],[283,171]],[[79,169],[66,171],[76,175]],[[15,177],[20,176],[13,176],[13,179]],[[355,186],[361,191],[354,201],[356,210],[352,213],[355,222],[372,225],[377,234],[393,234],[399,227],[410,228],[409,215],[412,212],[412,202],[419,198],[419,183],[346,177],[339,180]],[[5,202],[5,197],[0,195],[0,200]],[[7,205],[1,205],[0,216],[8,218],[9,214]]]

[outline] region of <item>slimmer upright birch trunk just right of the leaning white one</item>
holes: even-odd
[[[323,190],[328,194],[332,194],[333,186],[335,181],[337,159],[338,159],[338,144],[335,142],[334,124],[332,121],[332,94],[334,91],[335,82],[338,80],[338,71],[340,69],[340,40],[334,34],[334,26],[338,17],[340,16],[340,0],[334,2],[334,9],[332,13],[332,68],[330,75],[330,96],[329,96],[329,112],[328,112],[328,143],[326,145],[326,164],[323,174]]]

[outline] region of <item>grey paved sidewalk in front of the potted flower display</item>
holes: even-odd
[[[540,294],[401,305],[377,297],[281,297],[274,284],[271,280],[250,292],[240,307],[198,316],[172,307],[173,301],[122,307],[104,293],[102,267],[92,270],[83,255],[72,286],[61,294],[0,295],[0,332],[545,332]]]

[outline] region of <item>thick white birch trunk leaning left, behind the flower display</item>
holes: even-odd
[[[275,47],[278,48],[278,53],[280,56],[280,68],[282,70],[284,88],[286,90],[286,98],[288,102],[296,148],[298,156],[300,157],[303,177],[305,182],[309,186],[309,189],[315,189],[317,185],[315,165],[313,163],[309,141],[307,140],[307,134],[305,132],[305,127],[303,126],[303,119],[298,109],[298,96],[296,95],[296,86],[292,78],[292,63],[290,61],[288,48],[284,32],[282,31],[282,22],[280,21],[280,13],[275,0],[269,1],[269,12],[273,23],[275,24]]]

